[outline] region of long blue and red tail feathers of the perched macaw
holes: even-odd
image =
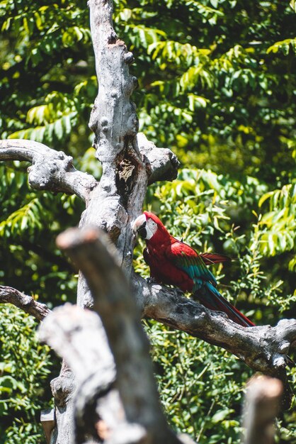
[[[229,319],[243,327],[254,327],[255,324],[243,313],[228,302],[222,294],[210,282],[205,282],[202,289],[198,289],[193,295],[207,309],[224,311]]]

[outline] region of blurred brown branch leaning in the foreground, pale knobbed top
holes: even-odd
[[[79,266],[93,294],[93,309],[101,316],[114,356],[127,421],[144,427],[147,443],[180,443],[161,411],[149,343],[110,238],[96,228],[70,229],[59,235],[57,245]]]

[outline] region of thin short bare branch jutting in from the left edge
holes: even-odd
[[[51,312],[45,304],[40,304],[40,302],[35,301],[32,296],[23,294],[12,287],[4,287],[3,285],[0,285],[0,304],[13,304],[25,311],[25,313],[34,316],[38,321],[43,321]]]

